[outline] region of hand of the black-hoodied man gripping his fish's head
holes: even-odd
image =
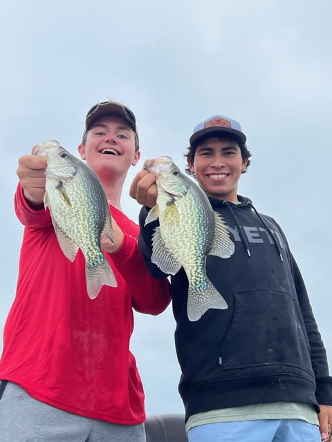
[[[144,163],[142,171],[138,172],[130,186],[129,195],[139,204],[147,207],[154,207],[157,201],[156,175],[145,169],[145,165],[151,160]]]

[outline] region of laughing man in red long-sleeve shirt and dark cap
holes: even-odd
[[[3,332],[2,442],[145,441],[144,392],[129,351],[133,309],[160,314],[170,295],[167,280],[149,276],[138,225],[121,209],[125,177],[140,158],[135,115],[117,102],[93,106],[78,150],[110,202],[114,244],[102,235],[102,249],[118,287],[89,298],[84,256],[64,256],[44,208],[46,162],[21,157],[15,211],[24,238]]]

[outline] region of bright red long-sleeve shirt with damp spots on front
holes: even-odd
[[[91,300],[85,260],[59,247],[48,210],[35,211],[23,189],[15,195],[24,224],[17,293],[3,332],[0,379],[67,412],[113,423],[145,420],[144,392],[129,351],[133,308],[159,314],[170,302],[169,283],[149,276],[136,238],[138,226],[111,207],[122,231],[120,250],[107,258],[118,287]]]

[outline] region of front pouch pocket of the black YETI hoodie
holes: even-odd
[[[311,371],[299,303],[283,291],[234,294],[234,317],[221,345],[223,369],[291,365]]]

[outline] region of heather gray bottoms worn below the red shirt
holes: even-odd
[[[19,385],[2,381],[0,441],[145,442],[145,430],[143,423],[119,425],[64,412],[37,401]]]

